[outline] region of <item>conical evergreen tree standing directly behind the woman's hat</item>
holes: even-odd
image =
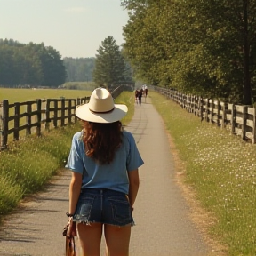
[[[113,36],[108,36],[102,41],[97,52],[92,73],[93,81],[100,85],[105,84],[107,87],[122,84],[125,77],[125,62]]]

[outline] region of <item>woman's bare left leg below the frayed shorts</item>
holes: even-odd
[[[101,234],[101,223],[77,224],[77,236],[83,252],[81,256],[100,256]]]

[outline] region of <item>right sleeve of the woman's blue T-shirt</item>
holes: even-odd
[[[138,169],[142,164],[144,164],[140,152],[137,148],[136,142],[132,133],[128,133],[128,140],[129,140],[129,154],[126,161],[126,169],[127,171],[132,171]]]

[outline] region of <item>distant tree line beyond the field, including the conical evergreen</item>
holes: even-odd
[[[69,82],[68,88],[79,89],[80,85],[72,82],[93,81],[109,88],[134,84],[132,68],[119,47],[114,37],[108,36],[101,42],[95,58],[62,60],[57,50],[44,43],[21,44],[0,39],[0,85],[65,87]]]

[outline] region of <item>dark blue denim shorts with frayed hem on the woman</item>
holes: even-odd
[[[126,226],[134,225],[128,196],[111,189],[81,190],[73,221],[90,225],[93,222]]]

